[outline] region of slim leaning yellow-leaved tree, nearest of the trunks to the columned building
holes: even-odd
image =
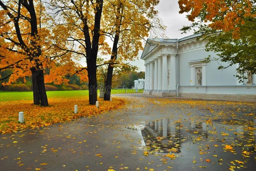
[[[105,84],[104,100],[110,100],[113,69],[117,58],[137,59],[142,50],[141,40],[149,36],[154,29],[164,30],[154,9],[159,0],[108,0],[104,4],[103,33],[113,41],[111,57]]]

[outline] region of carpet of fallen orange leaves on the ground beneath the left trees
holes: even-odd
[[[51,104],[49,107],[35,106],[30,100],[1,102],[0,134],[67,122],[83,116],[98,115],[126,104],[124,99],[119,98],[115,98],[115,103],[99,100],[100,108],[96,108],[85,102],[88,98],[88,96],[49,98]],[[74,114],[74,105],[78,105],[77,114]],[[20,111],[24,112],[25,123],[18,123]]]

